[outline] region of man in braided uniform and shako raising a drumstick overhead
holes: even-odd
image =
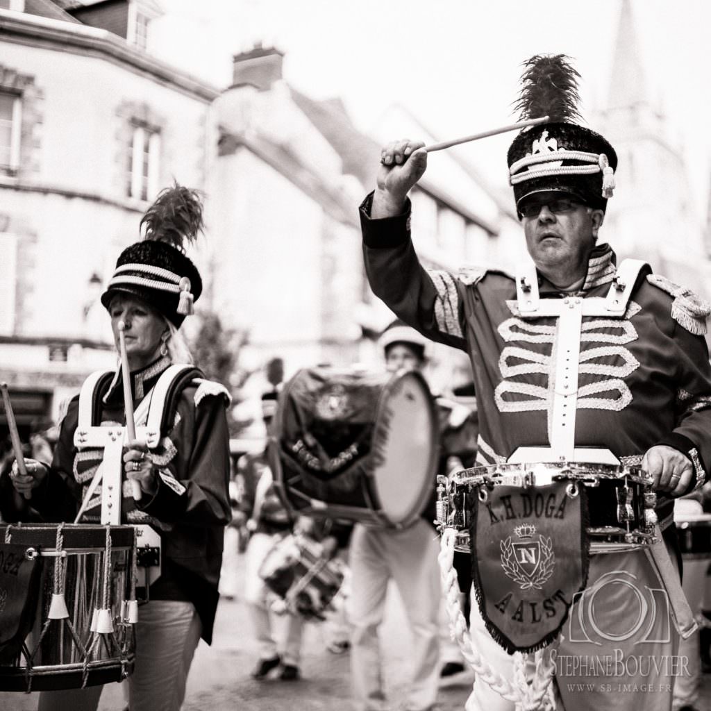
[[[469,353],[480,464],[580,456],[639,464],[653,476],[658,521],[673,546],[673,498],[702,486],[711,466],[711,368],[702,336],[711,309],[646,264],[616,265],[611,248],[598,243],[616,154],[602,136],[573,122],[577,72],[567,58],[537,56],[525,68],[524,117],[550,117],[520,132],[508,151],[533,265],[516,277],[424,269],[410,239],[407,193],[422,178],[427,152],[420,142],[401,140],[383,149],[377,187],[360,208],[370,284],[418,331]],[[567,619],[578,626],[571,634],[572,624],[563,626],[566,611],[560,613],[559,708],[670,708],[674,677],[685,673],[675,627],[686,634],[693,624],[667,548],[648,552],[592,556],[587,589],[566,599],[575,602]],[[626,584],[610,581],[613,572]],[[662,587],[668,609],[656,608],[652,619],[644,596]],[[518,608],[507,609],[503,592],[498,611],[483,601],[487,624],[494,614],[516,618]],[[508,592],[518,594],[518,583],[509,581]],[[476,608],[474,646],[512,678],[513,657],[493,641]],[[635,629],[643,608],[648,619]],[[551,609],[558,614],[556,604]],[[529,618],[530,629],[540,624]],[[478,677],[466,708],[508,710],[513,702]]]

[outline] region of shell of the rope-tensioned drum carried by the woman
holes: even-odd
[[[129,599],[135,534],[132,526],[111,526],[111,553],[109,564],[109,609],[114,626],[112,640],[97,643],[85,660],[75,640],[62,620],[50,621],[45,634],[41,632],[55,590],[55,560],[57,552],[56,525],[0,526],[0,540],[6,540],[10,528],[13,545],[26,546],[40,554],[37,564],[39,574],[38,602],[34,610],[34,624],[26,638],[26,647],[33,654],[31,665],[21,653],[14,663],[0,665],[0,690],[26,691],[81,688],[121,681],[132,673],[134,664],[134,626],[124,621],[122,606]],[[98,525],[65,525],[62,529],[62,550],[66,563],[63,587],[69,619],[85,648],[90,646],[90,626],[96,608],[105,600],[104,562],[106,527]],[[0,544],[1,545],[1,544]],[[41,641],[40,641],[41,637]],[[109,635],[102,635],[108,638]]]

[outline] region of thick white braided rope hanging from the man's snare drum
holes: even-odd
[[[449,630],[451,636],[459,644],[462,655],[474,670],[476,676],[488,684],[498,695],[508,701],[513,701],[517,711],[548,711],[555,709],[551,686],[555,664],[553,663],[550,646],[533,654],[532,661],[535,663],[535,675],[531,684],[528,683],[526,675],[526,664],[531,658],[530,655],[515,653],[514,683],[512,684],[483,659],[472,646],[471,638],[469,638],[466,629],[466,620],[459,606],[459,582],[457,581],[456,571],[452,566],[455,538],[456,530],[454,528],[444,530],[437,560],[442,582],[444,583],[444,599],[447,616],[449,616]]]

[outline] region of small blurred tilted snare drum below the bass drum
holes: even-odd
[[[276,596],[272,609],[324,620],[327,609],[335,609],[336,596],[345,597],[346,565],[324,555],[321,544],[306,535],[289,535],[278,540],[260,566],[260,577]]]

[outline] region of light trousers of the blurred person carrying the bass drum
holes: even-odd
[[[378,628],[383,622],[385,594],[395,581],[410,626],[410,683],[406,708],[424,711],[434,705],[439,684],[439,626],[442,592],[437,535],[424,520],[405,530],[356,525],[351,538],[352,627],[351,675],[358,711],[385,708],[383,664]]]

